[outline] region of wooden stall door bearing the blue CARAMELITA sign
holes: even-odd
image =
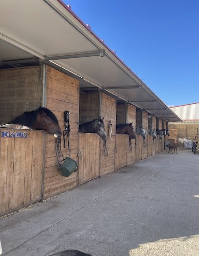
[[[3,138],[5,131],[27,138]],[[41,199],[43,145],[42,131],[0,130],[0,215]]]

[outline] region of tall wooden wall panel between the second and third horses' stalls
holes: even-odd
[[[115,170],[115,147],[116,147],[116,99],[101,93],[101,117],[104,117],[104,126],[107,133],[108,157],[104,154],[103,141],[100,140],[100,175]],[[108,135],[109,121],[112,123],[112,138]]]

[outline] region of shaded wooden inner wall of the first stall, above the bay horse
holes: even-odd
[[[40,106],[39,66],[0,70],[0,124]]]

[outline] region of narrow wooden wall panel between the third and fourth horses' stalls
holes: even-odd
[[[133,128],[136,129],[136,106],[127,104],[127,123],[133,123]],[[136,133],[136,131],[135,131]],[[132,151],[129,149],[129,140],[127,138],[126,141],[126,148],[127,148],[127,156],[126,156],[126,163],[127,165],[131,163],[135,163],[135,155],[136,155],[136,148],[135,148],[136,140],[131,140]]]

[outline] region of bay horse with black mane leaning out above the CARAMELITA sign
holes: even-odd
[[[57,117],[47,108],[39,108],[37,110],[24,112],[12,120],[9,124],[4,124],[2,127],[14,129],[35,129],[43,130],[54,136],[61,136],[61,128]]]

